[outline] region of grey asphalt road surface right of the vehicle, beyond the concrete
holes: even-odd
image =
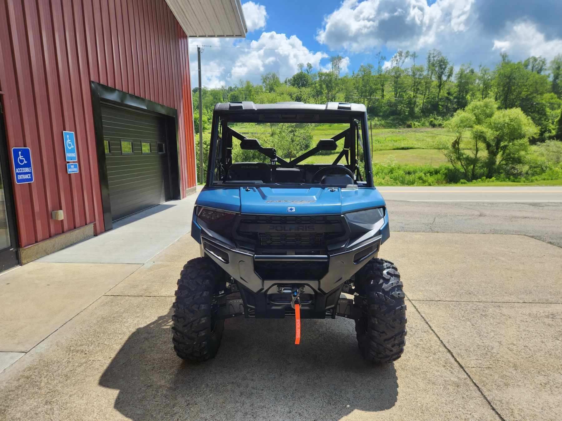
[[[380,187],[391,232],[515,234],[562,247],[562,187]]]

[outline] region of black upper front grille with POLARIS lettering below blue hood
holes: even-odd
[[[237,235],[257,248],[277,250],[325,249],[346,230],[341,216],[249,215],[239,217]]]

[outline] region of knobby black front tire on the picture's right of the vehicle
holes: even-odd
[[[375,364],[395,361],[406,344],[406,305],[400,273],[392,262],[372,259],[355,277],[360,296],[355,305],[361,318],[355,321],[359,350]]]

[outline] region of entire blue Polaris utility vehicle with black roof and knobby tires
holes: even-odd
[[[294,318],[296,344],[301,318],[350,318],[365,359],[400,358],[406,305],[398,270],[378,258],[388,213],[364,105],[216,104],[207,168],[191,231],[201,257],[175,294],[180,358],[213,358],[238,315]]]

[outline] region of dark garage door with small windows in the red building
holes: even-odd
[[[113,221],[170,199],[165,117],[102,103]]]

